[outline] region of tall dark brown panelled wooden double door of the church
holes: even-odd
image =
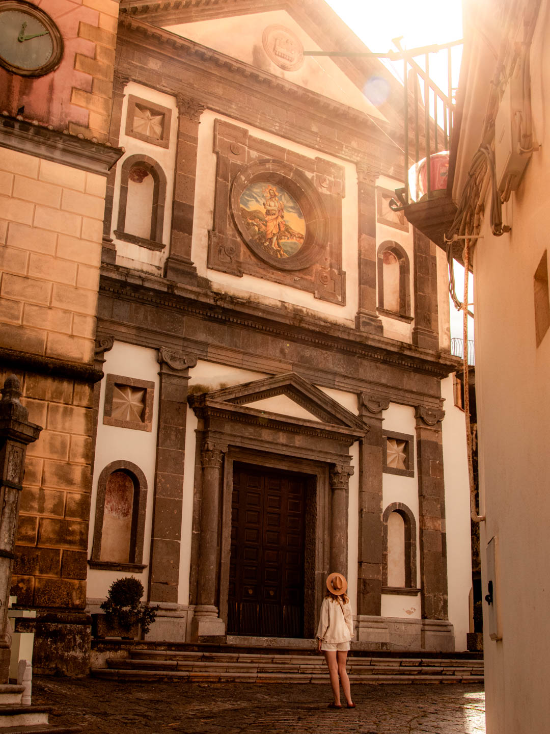
[[[303,637],[307,477],[233,466],[227,633]]]

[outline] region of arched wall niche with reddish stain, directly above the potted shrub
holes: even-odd
[[[95,509],[92,568],[140,571],[147,479],[132,462],[111,462],[100,473]]]

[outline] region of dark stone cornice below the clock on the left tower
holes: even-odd
[[[0,146],[104,176],[123,152],[8,115],[0,115]]]

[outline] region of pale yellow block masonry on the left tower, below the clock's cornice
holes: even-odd
[[[92,362],[105,184],[3,151],[0,347]]]

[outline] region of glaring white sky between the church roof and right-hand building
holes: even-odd
[[[462,37],[461,0],[326,0],[370,51],[385,54],[395,51],[392,38],[403,36],[403,48],[417,48],[432,43],[450,43]],[[340,49],[334,49],[334,51]],[[458,86],[462,47],[452,51],[452,85]],[[417,59],[423,65],[422,58]],[[403,62],[392,63],[395,76],[403,79]],[[447,91],[447,53],[430,54],[430,76]],[[462,300],[464,270],[455,264],[455,286]],[[469,301],[474,299],[472,275],[469,279]],[[471,310],[473,308],[471,307]],[[462,312],[450,303],[451,336],[462,338]],[[469,319],[468,338],[474,338],[474,323]]]

